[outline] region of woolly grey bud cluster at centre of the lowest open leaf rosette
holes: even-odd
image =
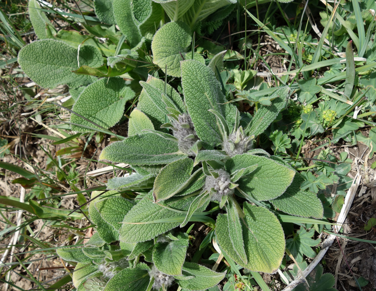
[[[221,201],[222,196],[232,195],[234,189],[230,189],[230,174],[226,171],[219,169],[215,171],[218,177],[206,176],[205,189],[212,193],[212,201]]]

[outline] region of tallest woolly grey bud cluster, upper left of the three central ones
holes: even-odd
[[[178,140],[180,151],[188,153],[188,150],[199,138],[194,130],[192,119],[188,114],[180,114],[178,119],[173,119],[171,122],[173,125],[173,135]]]

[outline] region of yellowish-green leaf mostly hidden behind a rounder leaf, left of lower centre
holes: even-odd
[[[96,197],[99,195],[101,191],[93,191],[91,193],[92,197]],[[117,193],[117,191],[108,191],[107,194],[114,194]],[[105,221],[105,219],[100,216],[100,213],[98,212],[97,208],[95,207],[95,203],[97,201],[100,201],[100,197],[92,200],[89,204],[89,215],[91,221],[97,225],[97,232],[103,241],[106,243],[111,243],[113,241],[117,241],[119,238],[119,234],[117,230],[114,229],[114,227]]]

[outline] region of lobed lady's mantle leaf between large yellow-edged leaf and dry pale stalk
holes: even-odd
[[[290,253],[298,263],[303,262],[303,255],[307,257],[316,256],[316,253],[311,247],[318,245],[320,239],[312,239],[314,233],[314,229],[307,232],[306,229],[301,226],[300,229],[294,233],[293,238],[286,239],[286,248],[290,250]]]

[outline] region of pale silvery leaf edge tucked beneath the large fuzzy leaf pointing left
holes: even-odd
[[[153,187],[153,177],[155,177],[154,174],[141,175],[138,173],[134,173],[127,177],[114,177],[108,180],[107,189],[122,191],[129,189],[150,189]]]

